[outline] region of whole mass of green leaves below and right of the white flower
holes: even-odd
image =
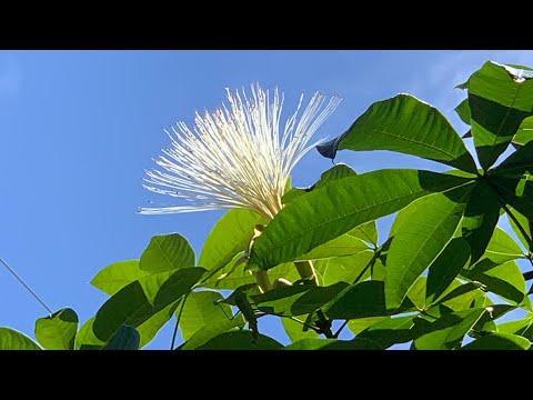
[[[336,164],[311,188],[289,190],[269,223],[251,211],[229,211],[198,262],[180,234],[154,237],[139,260],[94,277],[91,283],[110,298],[81,329],[76,312],[63,309],[37,321],[40,346],[0,328],[0,349],[140,349],[174,318],[183,343],[172,348],[179,350],[408,342],[418,350],[529,349],[530,274],[516,260],[532,261],[532,78],[526,67],[494,62],[474,72],[460,86],[467,97],[456,111],[470,126],[463,138],[412,96],[372,104],[346,132],[320,146],[321,154],[389,150],[452,169],[358,174]],[[481,169],[466,149],[469,137]],[[375,220],[394,213],[389,237],[380,240]],[[504,213],[520,243],[497,227]],[[295,262],[312,263],[320,284],[300,279]],[[254,270],[292,284],[262,293]],[[496,323],[516,309],[523,319]],[[260,333],[264,316],[282,319],[290,346]],[[334,321],[343,321],[336,332]],[[339,339],[344,327],[352,339]]]

